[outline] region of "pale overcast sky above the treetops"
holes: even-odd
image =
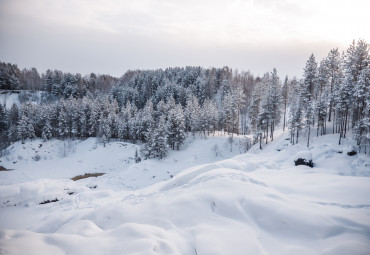
[[[229,66],[303,74],[313,53],[370,42],[368,0],[0,0],[0,61],[110,74]]]

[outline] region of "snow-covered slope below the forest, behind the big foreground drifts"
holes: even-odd
[[[137,189],[168,180],[186,168],[238,155],[245,151],[244,141],[244,136],[235,136],[231,147],[226,135],[207,138],[190,135],[180,151],[170,151],[162,160],[149,159],[138,164],[134,156],[140,145],[121,141],[113,141],[106,147],[97,138],[48,142],[35,139],[25,144],[19,141],[8,148],[7,156],[0,158],[0,165],[16,169],[4,173],[0,184],[39,178],[69,179],[84,173],[104,172],[107,175],[103,179],[111,179],[105,180],[109,188]]]

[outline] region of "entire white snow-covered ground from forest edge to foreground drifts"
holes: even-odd
[[[120,142],[15,144],[0,162],[15,169],[0,172],[0,253],[369,254],[369,157],[327,135],[308,148],[315,167],[295,167],[307,148],[286,136],[218,162],[215,144],[238,153],[226,138],[139,164],[136,145]],[[68,179],[84,172],[107,174]]]

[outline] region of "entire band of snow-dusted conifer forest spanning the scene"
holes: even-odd
[[[317,60],[302,63],[302,77],[279,77],[276,69],[255,77],[224,68],[167,68],[127,71],[122,77],[87,76],[0,63],[0,89],[39,93],[41,103],[0,105],[1,147],[21,140],[99,137],[143,143],[144,158],[163,158],[186,136],[216,131],[253,134],[253,144],[274,139],[277,126],[291,143],[310,136],[349,131],[358,149],[370,145],[369,45],[353,41]],[[39,92],[40,91],[40,92]]]

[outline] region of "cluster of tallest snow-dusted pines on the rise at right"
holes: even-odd
[[[326,58],[316,62],[312,54],[306,62],[300,82],[292,86],[290,123],[292,143],[299,134],[307,136],[339,134],[339,144],[352,129],[359,150],[370,145],[370,66],[369,45],[359,40],[342,54],[332,49]]]

